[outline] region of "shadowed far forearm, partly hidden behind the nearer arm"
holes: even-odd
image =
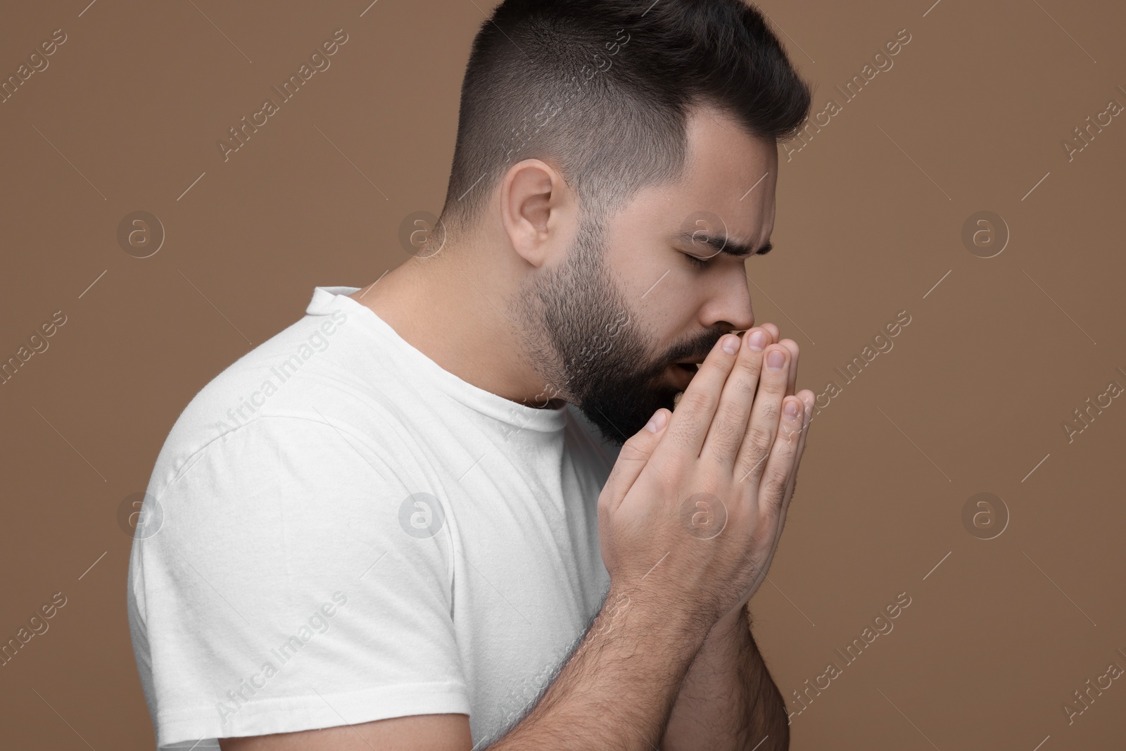
[[[785,703],[754,638],[745,608],[708,634],[685,676],[661,751],[779,751],[789,748]]]

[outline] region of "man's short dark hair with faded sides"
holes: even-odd
[[[717,107],[777,143],[805,119],[810,93],[742,0],[504,0],[473,39],[441,218],[472,226],[530,158],[560,169],[583,213],[605,216],[682,175],[689,108]]]

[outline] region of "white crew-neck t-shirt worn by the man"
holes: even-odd
[[[127,599],[160,748],[431,713],[491,742],[609,587],[618,448],[444,370],[356,289],[318,287],[157,459]]]

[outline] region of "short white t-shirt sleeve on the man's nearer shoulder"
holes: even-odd
[[[468,714],[418,472],[337,420],[262,417],[169,474],[129,562],[159,745]]]

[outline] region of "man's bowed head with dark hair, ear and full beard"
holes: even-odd
[[[539,400],[622,442],[730,330],[810,88],[740,0],[506,0],[473,43],[441,221],[511,279]],[[447,238],[448,235],[448,238]],[[700,260],[694,260],[700,259]]]

